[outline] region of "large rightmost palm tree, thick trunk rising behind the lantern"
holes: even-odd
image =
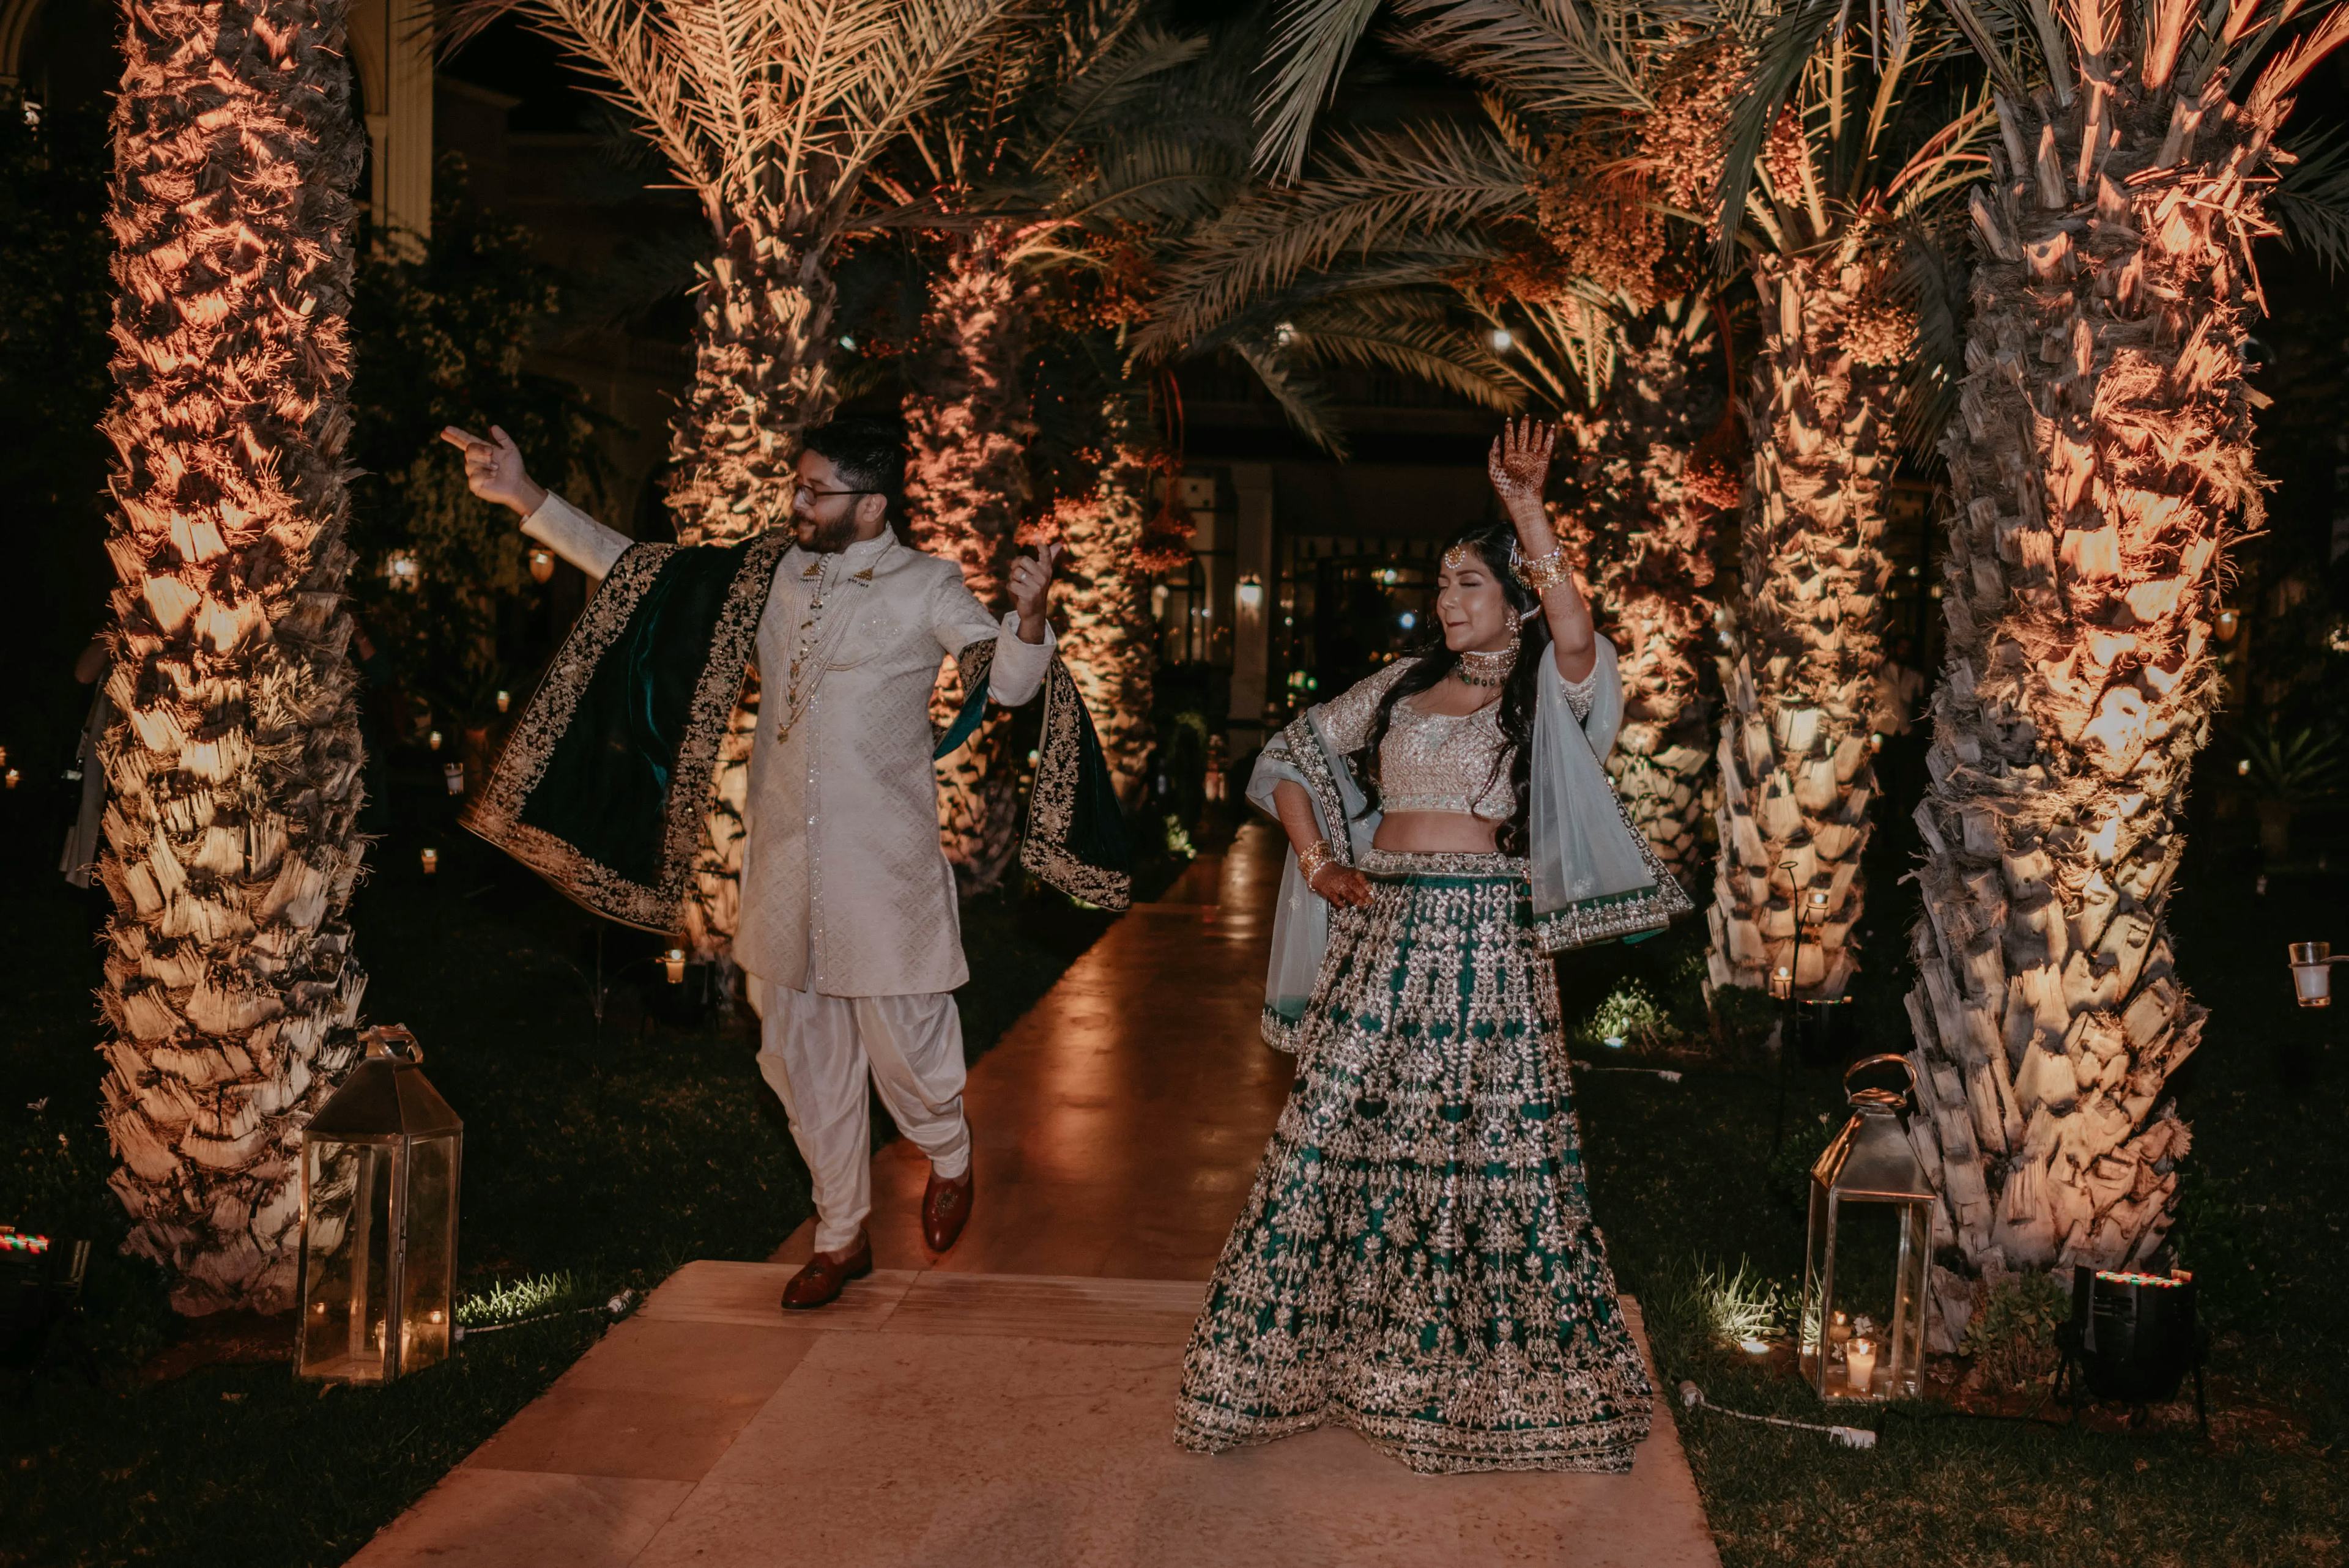
[[[2271,176],[2349,7],[2067,0],[2011,35],[1950,9],[1999,141],[1968,192],[1971,369],[1943,439],[1912,1134],[1971,1270],[2142,1265],[2187,1153],[2166,1082],[2203,1028],[2166,908],[2227,547],[2260,521],[2248,246],[2281,216],[2342,254],[2316,200],[2337,169]],[[1964,1322],[1964,1279],[1936,1282]]]

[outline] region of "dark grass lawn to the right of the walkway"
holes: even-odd
[[[1896,1411],[1875,1451],[1675,1408],[1729,1568],[2349,1561],[2349,1310],[2333,1256],[2349,1209],[2349,1073],[2337,1014],[2297,1009],[2283,967],[2290,939],[2340,941],[2344,878],[2309,866],[2271,876],[2260,894],[2255,869],[2220,850],[2225,838],[2199,826],[2170,906],[2180,972],[2210,1007],[2201,1049],[2170,1084],[2194,1124],[2173,1237],[2213,1333],[2210,1441],[2194,1432],[2189,1401],[2154,1411],[2145,1432],[2116,1430],[2119,1413],[2093,1422],[2100,1430],[2055,1430],[1926,1401]],[[1896,885],[1903,854],[1893,843],[1872,869],[1872,969],[1856,1005],[1858,1049],[1870,1052],[1907,1049],[1898,1005],[1917,894]],[[1684,922],[1654,944],[1569,960],[1567,1016],[1590,1014],[1630,979],[1663,1000],[1701,948],[1703,932]],[[1719,1406],[1820,1420],[1783,1357],[1712,1343],[1691,1275],[1748,1261],[1790,1296],[1799,1286],[1804,1174],[1844,1120],[1837,1075],[1792,1077],[1773,1155],[1769,1068],[1663,1066],[1687,1073],[1677,1084],[1579,1075],[1600,1225],[1623,1289],[1647,1303],[1661,1392],[1687,1378]]]

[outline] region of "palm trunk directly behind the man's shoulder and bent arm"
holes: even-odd
[[[930,279],[923,352],[904,399],[904,502],[914,542],[963,568],[989,613],[1005,608],[1019,514],[1029,498],[1024,359],[1029,300],[1005,265],[996,225],[956,237]],[[940,723],[961,707],[949,674],[935,699]],[[1017,847],[1019,756],[1012,716],[989,709],[977,735],[937,765],[937,831],[965,894],[1003,880]]]

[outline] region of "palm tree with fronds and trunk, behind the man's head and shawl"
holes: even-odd
[[[453,42],[519,16],[561,45],[660,150],[709,221],[693,383],[669,432],[684,542],[733,542],[792,512],[796,437],[836,392],[832,256],[881,157],[1015,0],[467,0]],[[721,749],[695,894],[695,951],[740,913],[756,692]]]

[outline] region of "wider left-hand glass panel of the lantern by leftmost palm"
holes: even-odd
[[[381,1383],[392,1305],[392,1164],[378,1143],[303,1150],[301,1376]]]

